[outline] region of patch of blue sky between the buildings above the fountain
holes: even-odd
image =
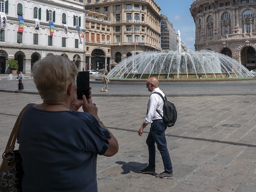
[[[176,33],[180,29],[181,41],[190,50],[195,50],[195,22],[190,14],[194,0],[155,0],[161,8],[161,14],[167,15]]]

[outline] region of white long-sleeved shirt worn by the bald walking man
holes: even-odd
[[[165,96],[163,91],[160,90],[160,88],[155,88],[152,93],[158,92],[160,93],[163,97]],[[156,112],[158,110],[161,115],[164,116],[163,113],[163,106],[164,106],[164,101],[161,98],[160,95],[158,94],[151,94],[148,100],[148,115],[144,120],[144,123],[152,123],[152,120],[156,119],[162,119],[162,117]]]

